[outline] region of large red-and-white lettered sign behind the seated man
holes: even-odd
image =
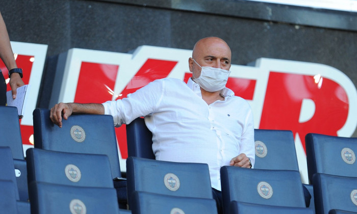
[[[32,50],[35,56],[38,50]],[[191,76],[188,69],[191,55],[191,50],[146,45],[133,53],[69,49],[59,57],[50,106],[57,102],[101,103],[121,99],[158,78],[173,77],[186,82]],[[231,71],[226,86],[248,100],[255,128],[293,131],[303,174],[307,175],[304,152],[307,133],[350,137],[356,129],[356,88],[334,67],[260,58],[247,66],[232,65]],[[31,68],[30,81],[38,80],[35,83],[38,86],[32,86],[30,99],[33,100],[37,100],[39,74]],[[32,103],[24,119],[32,119],[34,107]],[[125,125],[116,128],[116,134],[119,158],[124,160],[127,157]],[[28,144],[27,139],[23,138],[24,144]],[[121,164],[125,169],[125,162]]]

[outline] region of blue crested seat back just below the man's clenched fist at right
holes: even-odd
[[[224,213],[232,201],[306,207],[298,171],[223,166],[220,174]]]

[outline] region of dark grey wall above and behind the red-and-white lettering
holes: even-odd
[[[0,11],[11,41],[48,45],[38,103],[43,108],[48,107],[53,62],[70,48],[192,49],[207,36],[231,46],[232,64],[262,57],[322,63],[357,86],[357,14],[352,12],[243,0],[0,0]]]

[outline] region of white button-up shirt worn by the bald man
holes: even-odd
[[[206,163],[212,188],[221,190],[221,166],[245,153],[254,166],[254,126],[250,105],[224,88],[224,100],[208,105],[199,85],[191,78],[157,79],[128,94],[127,98],[103,103],[114,125],[129,124],[145,116],[152,132],[156,159],[171,162]]]

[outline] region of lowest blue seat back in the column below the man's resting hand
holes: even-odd
[[[120,213],[114,188],[29,184],[31,213]]]

